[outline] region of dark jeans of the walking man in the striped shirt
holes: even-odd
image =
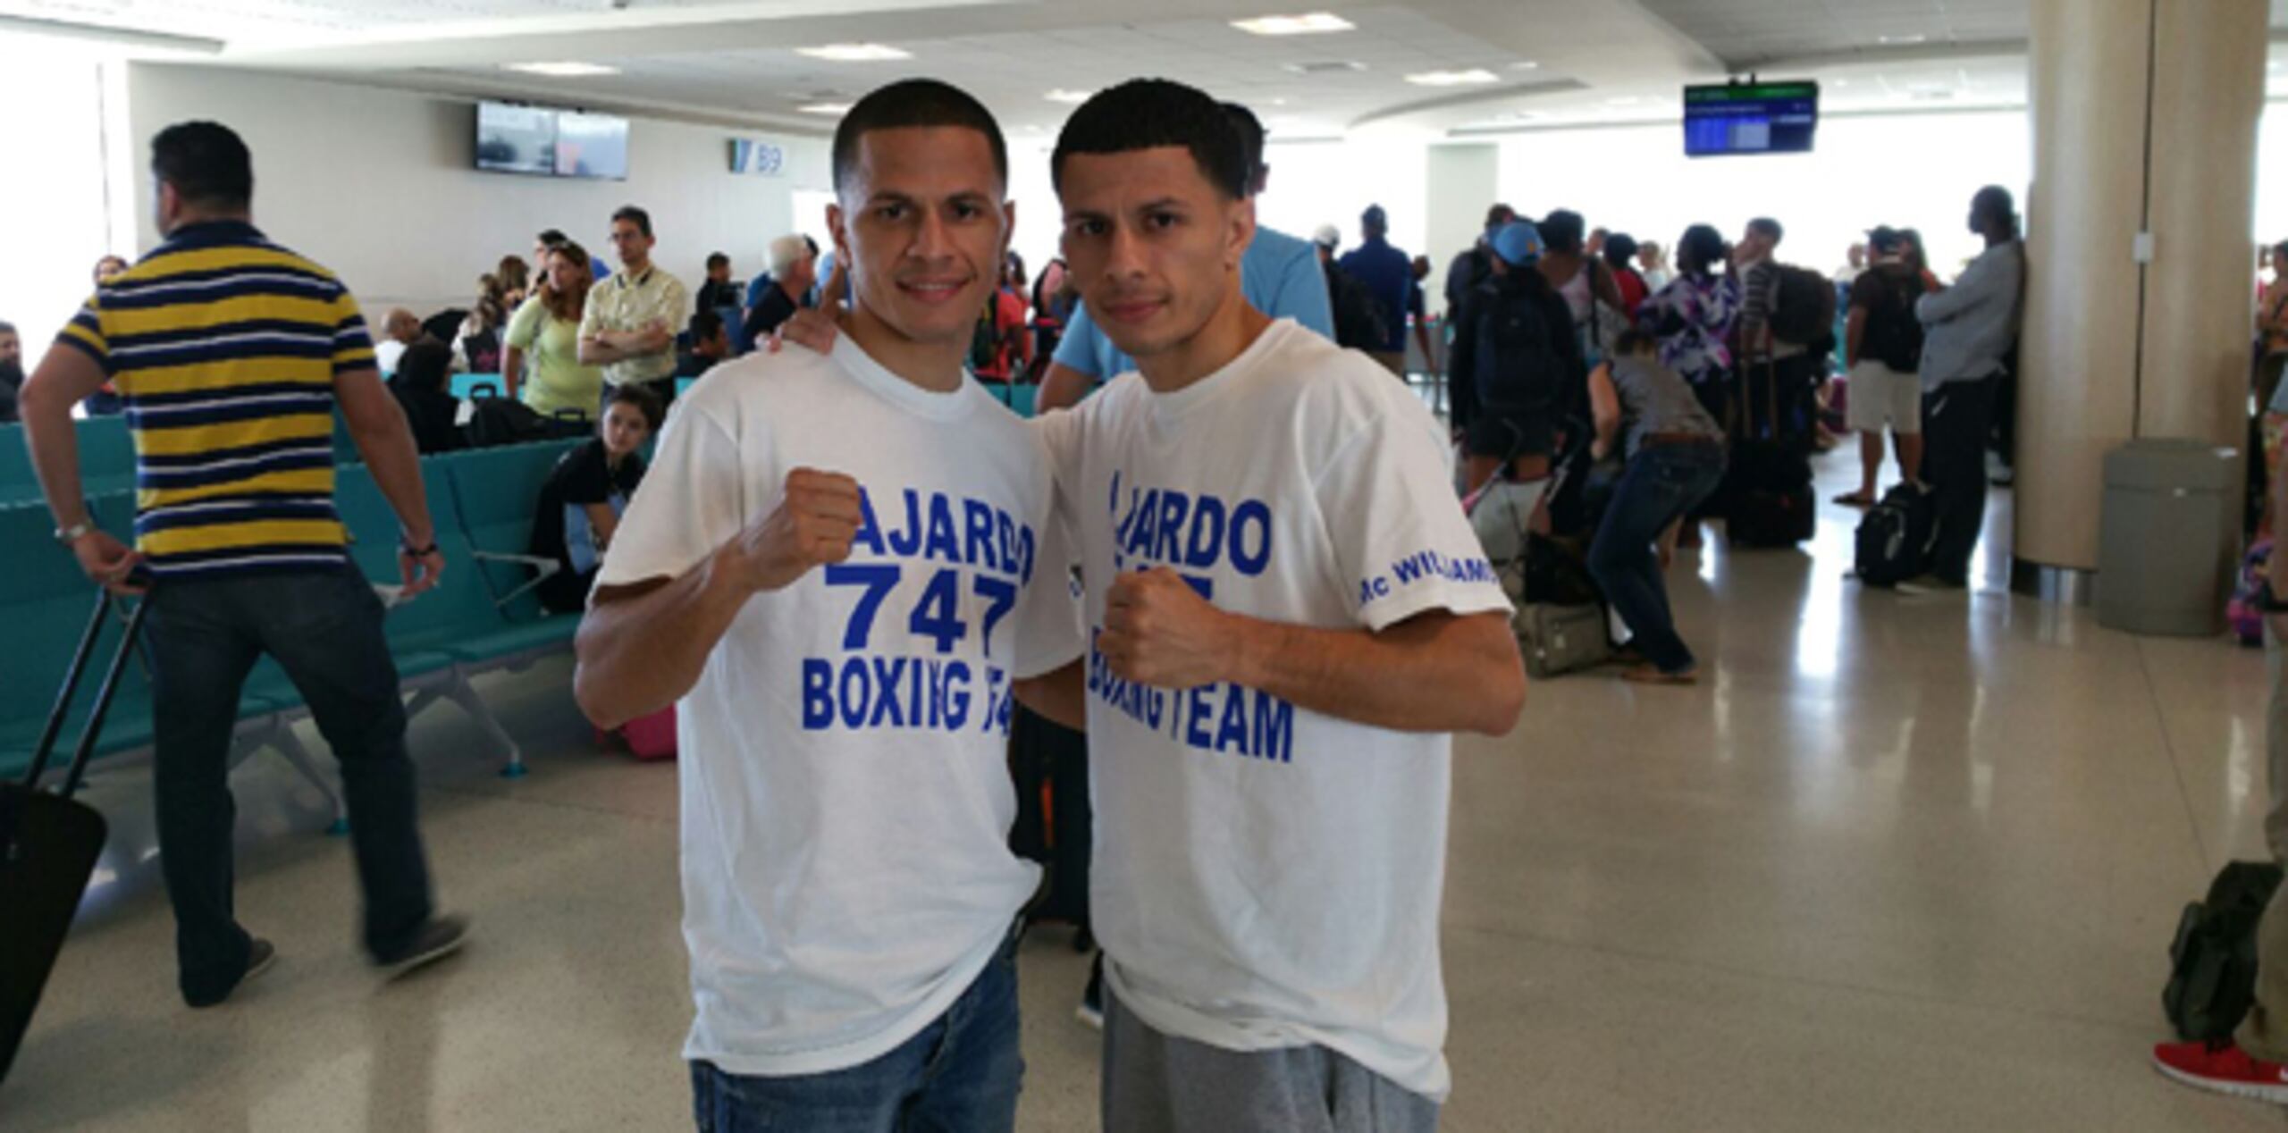
[[[430,918],[414,824],[405,703],[382,639],[382,602],[355,570],[162,579],[151,588],[158,845],[174,902],[183,998],[213,1003],[247,970],[231,913],[231,732],[261,655],[286,668],[341,762],[366,950],[405,950]]]

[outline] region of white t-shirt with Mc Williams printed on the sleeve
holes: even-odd
[[[1322,629],[1510,609],[1430,412],[1290,320],[1183,391],[1128,373],[1039,428],[1091,641],[1105,581],[1153,565]],[[1329,1046],[1444,1099],[1451,748],[1231,684],[1135,687],[1091,648],[1091,927],[1121,1005],[1229,1051]]]

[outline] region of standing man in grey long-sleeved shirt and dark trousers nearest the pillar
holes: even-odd
[[[2025,247],[2007,188],[1986,185],[1970,199],[1970,231],[1986,238],[1986,252],[1963,268],[1952,288],[1915,302],[1924,334],[1922,421],[1931,437],[1924,478],[1938,506],[1929,581],[1949,591],[1970,584],[1970,554],[1986,526],[1986,433],[1995,375],[2018,343],[2025,300]]]

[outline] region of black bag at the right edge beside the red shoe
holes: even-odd
[[[2185,1041],[2229,1039],[2256,1003],[2256,922],[2281,886],[2270,861],[2235,861],[2185,906],[2160,1005]]]

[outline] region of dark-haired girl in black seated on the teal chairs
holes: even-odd
[[[620,529],[620,513],[643,483],[636,449],[652,439],[664,414],[659,394],[641,385],[613,387],[599,435],[556,460],[556,472],[540,485],[531,554],[556,561],[556,575],[538,586],[549,611],[579,613],[588,607],[588,588]]]

